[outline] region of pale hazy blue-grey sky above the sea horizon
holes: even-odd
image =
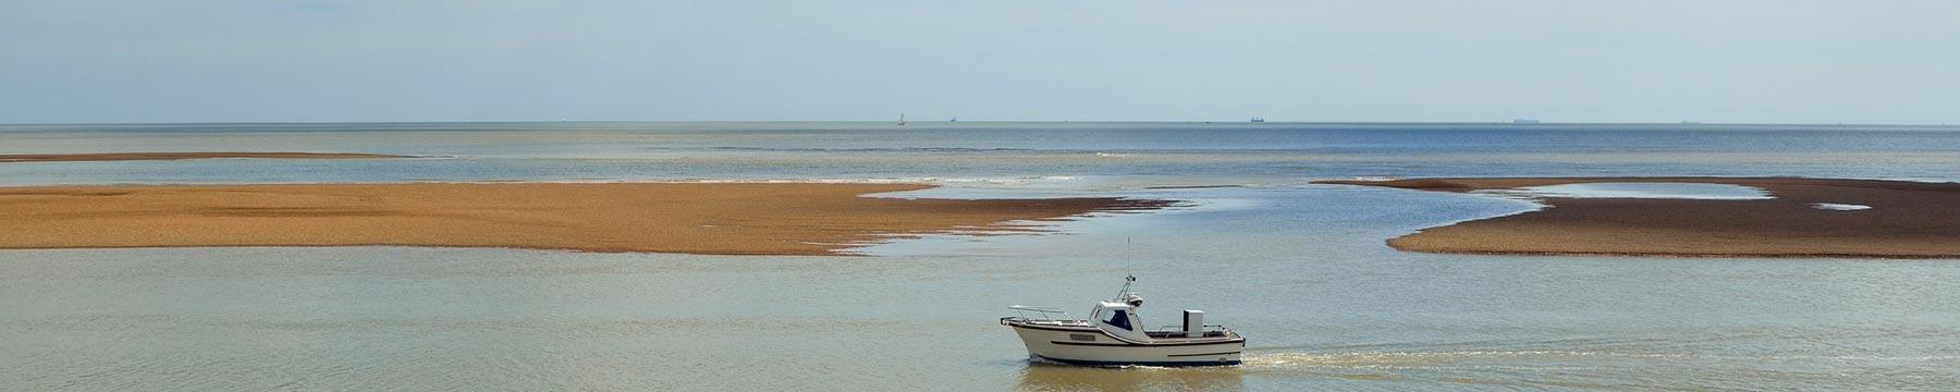
[[[16,123],[1960,123],[1952,0],[0,2]]]

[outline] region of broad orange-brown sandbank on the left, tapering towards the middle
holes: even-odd
[[[0,249],[417,245],[833,255],[906,233],[1164,200],[904,200],[923,184],[237,184],[0,188]]]

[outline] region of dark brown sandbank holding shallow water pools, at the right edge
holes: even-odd
[[[1680,257],[1960,257],[1960,184],[1840,178],[1409,178],[1323,184],[1472,192],[1584,182],[1701,182],[1772,200],[1543,198],[1548,208],[1429,227],[1403,251]],[[1825,210],[1819,204],[1870,206]]]

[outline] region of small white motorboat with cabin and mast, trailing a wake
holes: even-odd
[[[1245,337],[1225,325],[1205,325],[1205,312],[1184,310],[1184,325],[1147,329],[1137,316],[1143,296],[1129,290],[1135,282],[1137,276],[1125,276],[1123,290],[1111,300],[1096,302],[1088,319],[1076,319],[1060,308],[1007,306],[1017,316],[1000,318],[1000,325],[1013,327],[1027,345],[1027,355],[1039,361],[1092,367],[1239,365]]]

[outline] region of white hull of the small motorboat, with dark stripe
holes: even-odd
[[[1151,367],[1219,367],[1239,365],[1245,339],[1225,337],[1154,339],[1133,343],[1096,327],[1051,327],[1002,321],[1021,335],[1031,357],[1068,365],[1151,365]]]

